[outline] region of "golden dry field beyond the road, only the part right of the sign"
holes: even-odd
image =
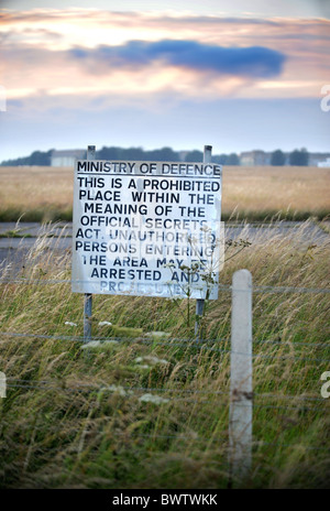
[[[311,166],[223,167],[224,216],[263,219],[280,211],[282,218],[318,219],[330,213],[330,168]],[[224,218],[226,219],[226,218]]]

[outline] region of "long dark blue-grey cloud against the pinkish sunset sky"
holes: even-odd
[[[140,67],[162,61],[167,65],[187,67],[251,78],[268,78],[282,72],[285,55],[264,46],[223,47],[195,41],[129,41],[119,46],[101,45],[86,50],[76,47],[69,54],[80,61],[94,61],[116,67]]]

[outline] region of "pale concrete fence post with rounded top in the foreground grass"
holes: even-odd
[[[252,463],[252,276],[232,279],[229,465],[233,480],[248,476]]]

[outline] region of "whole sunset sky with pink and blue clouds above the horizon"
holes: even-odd
[[[328,0],[0,0],[0,162],[89,144],[330,152],[329,51]]]

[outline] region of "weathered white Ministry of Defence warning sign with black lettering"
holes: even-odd
[[[79,160],[73,292],[217,298],[221,165]]]

